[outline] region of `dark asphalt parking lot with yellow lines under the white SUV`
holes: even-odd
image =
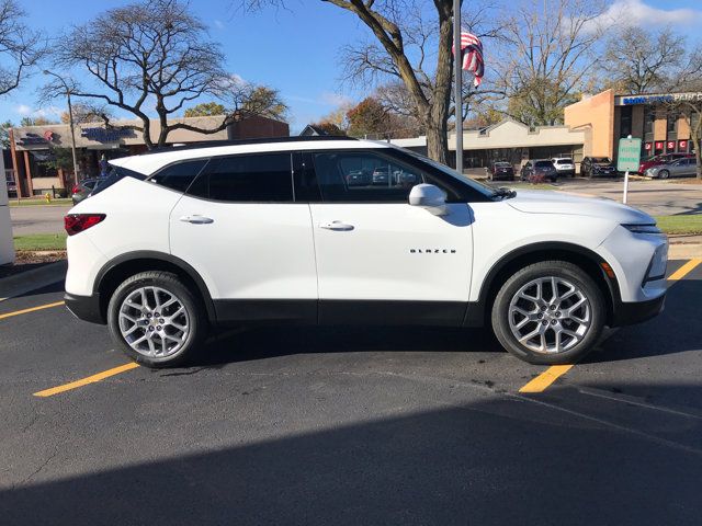
[[[669,272],[660,317],[571,368],[488,331],[288,328],[149,370],[63,284],[1,301],[2,523],[699,524],[702,261]]]

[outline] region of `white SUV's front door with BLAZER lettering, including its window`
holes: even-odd
[[[468,205],[449,204],[445,216],[410,206],[411,187],[434,181],[382,152],[309,158],[322,201],[310,204],[321,322],[460,324],[473,259]]]

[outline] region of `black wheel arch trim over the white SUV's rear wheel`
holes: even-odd
[[[145,271],[165,271],[176,274],[183,283],[189,286],[202,300],[210,322],[216,321],[216,313],[212,296],[207,289],[207,285],[190,264],[174,255],[139,250],[127,252],[105,263],[93,283],[93,294],[100,298],[100,316],[106,320],[107,304],[112,293],[129,276]]]

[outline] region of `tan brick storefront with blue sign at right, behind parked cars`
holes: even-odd
[[[614,159],[619,139],[629,135],[642,139],[642,157],[689,153],[694,151],[689,121],[675,110],[675,102],[683,100],[702,102],[702,93],[616,95],[607,90],[567,106],[564,119],[586,133],[586,156]]]

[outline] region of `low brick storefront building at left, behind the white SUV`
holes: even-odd
[[[214,129],[223,116],[184,117],[174,119],[203,129]],[[140,122],[116,122],[115,126],[139,125]],[[104,123],[88,123],[75,126],[78,171],[80,179],[100,175],[100,159],[115,159],[146,151],[141,132],[125,128],[105,128]],[[188,129],[176,129],[168,136],[168,144],[192,144],[201,141],[234,140],[290,135],[287,123],[265,117],[249,117],[227,128],[202,134]],[[152,140],[158,137],[158,123],[151,124]],[[68,124],[26,126],[10,130],[10,155],[12,170],[5,173],[13,179],[19,197],[46,193],[66,193],[73,184],[72,162],[70,169],[56,168],[57,159],[70,159],[71,134]],[[63,163],[65,165],[65,163]],[[5,171],[8,172],[8,171]]]

